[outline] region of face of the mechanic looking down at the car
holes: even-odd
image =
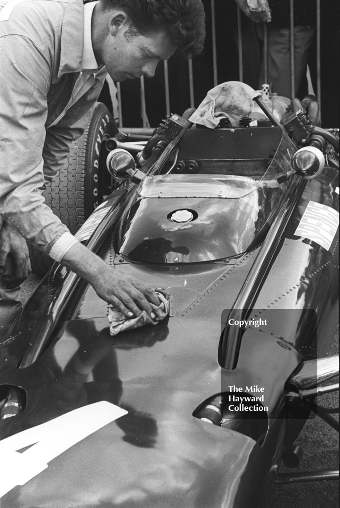
[[[140,35],[131,33],[128,25],[116,25],[110,31],[101,51],[101,63],[114,81],[153,77],[160,60],[169,58],[176,50],[164,31]]]

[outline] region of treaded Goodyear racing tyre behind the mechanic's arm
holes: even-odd
[[[72,234],[111,191],[105,164],[107,150],[102,142],[104,135],[117,133],[114,118],[97,102],[84,134],[72,143],[67,164],[44,192],[46,204]],[[45,275],[53,260],[30,244],[28,249],[32,271]]]

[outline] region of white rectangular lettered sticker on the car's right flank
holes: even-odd
[[[313,240],[329,250],[339,225],[339,212],[327,205],[310,201],[295,235]]]

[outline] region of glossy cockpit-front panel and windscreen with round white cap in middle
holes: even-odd
[[[129,259],[176,264],[236,256],[265,223],[263,192],[251,178],[151,178],[118,228],[116,251]]]

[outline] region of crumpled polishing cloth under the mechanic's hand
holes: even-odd
[[[159,321],[163,320],[169,314],[170,303],[163,293],[156,291],[156,295],[161,300],[161,303],[160,305],[150,303],[154,313],[156,314],[154,320],[145,310],[143,310],[138,317],[126,317],[126,315],[116,307],[109,305],[107,317],[108,322],[110,323],[110,334],[113,336],[117,335],[119,332],[123,332],[124,330],[132,330],[145,325],[157,325]]]

